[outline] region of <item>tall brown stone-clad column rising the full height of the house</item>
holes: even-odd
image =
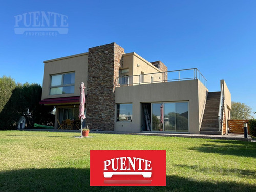
[[[115,79],[124,49],[115,43],[89,48],[86,123],[89,129],[114,130]]]

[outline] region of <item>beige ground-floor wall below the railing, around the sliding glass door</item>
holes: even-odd
[[[199,94],[200,90],[200,94]],[[115,131],[141,131],[141,103],[188,101],[189,133],[200,133],[207,88],[199,80],[143,84],[116,88],[115,103],[133,104],[133,121],[116,121]],[[116,113],[115,113],[116,114]]]

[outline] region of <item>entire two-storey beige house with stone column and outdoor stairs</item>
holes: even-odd
[[[78,119],[79,86],[84,82],[90,129],[226,133],[231,109],[226,83],[221,80],[220,92],[209,94],[207,80],[196,68],[168,71],[161,61],[125,53],[116,43],[44,65],[40,103],[56,107],[55,128],[57,120]]]

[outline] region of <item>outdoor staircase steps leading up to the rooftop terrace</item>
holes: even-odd
[[[209,92],[204,109],[200,134],[221,135],[219,131],[218,112],[221,92]]]

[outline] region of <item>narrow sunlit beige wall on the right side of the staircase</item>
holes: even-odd
[[[231,106],[231,93],[227,87],[227,84],[226,82],[222,79],[221,80],[221,87],[223,85],[223,94],[224,94],[224,98],[225,98],[225,103],[224,103],[224,106],[225,106],[225,123],[226,123],[226,127],[228,125],[227,123],[227,120],[230,119],[230,110],[232,109],[232,106]]]

